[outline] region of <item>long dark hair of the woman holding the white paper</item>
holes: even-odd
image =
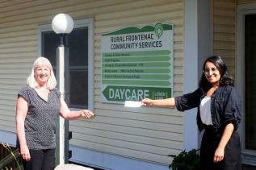
[[[218,68],[220,72],[220,81],[219,81],[220,86],[234,85],[233,77],[229,75],[229,70],[220,56],[208,57],[208,59],[204,61],[203,71],[204,71],[204,66],[207,62],[211,62],[216,66],[216,68]],[[202,73],[201,80],[199,81],[199,88],[203,89],[204,92],[207,92],[208,89],[212,88],[212,84],[206,79],[204,73]]]

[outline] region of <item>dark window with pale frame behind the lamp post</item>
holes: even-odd
[[[73,31],[67,36],[69,57],[65,57],[65,63],[69,63],[69,67],[65,71],[69,72],[70,81],[65,81],[65,93],[69,93],[69,107],[91,109],[91,99],[94,98],[92,22],[90,20],[87,24],[82,24],[86,23],[84,21],[86,20],[75,21]],[[40,27],[40,56],[51,61],[55,75],[59,41],[59,36],[52,31],[50,25]]]

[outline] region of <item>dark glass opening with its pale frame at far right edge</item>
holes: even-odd
[[[256,164],[256,3],[237,6],[236,84],[242,97],[240,135],[244,168]]]

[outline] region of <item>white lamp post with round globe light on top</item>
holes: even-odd
[[[57,82],[58,89],[62,97],[65,98],[69,106],[69,97],[65,94],[65,80],[69,83],[69,71],[65,72],[65,68],[69,67],[69,48],[65,47],[67,35],[73,30],[73,19],[67,14],[58,14],[52,19],[52,29],[60,36],[60,44],[57,48]],[[69,86],[69,85],[68,85]],[[59,116],[57,122],[57,149],[56,164],[66,164],[69,161],[69,122]]]

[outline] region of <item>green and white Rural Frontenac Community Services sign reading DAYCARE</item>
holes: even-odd
[[[171,97],[173,41],[173,25],[167,23],[103,34],[101,102]]]

